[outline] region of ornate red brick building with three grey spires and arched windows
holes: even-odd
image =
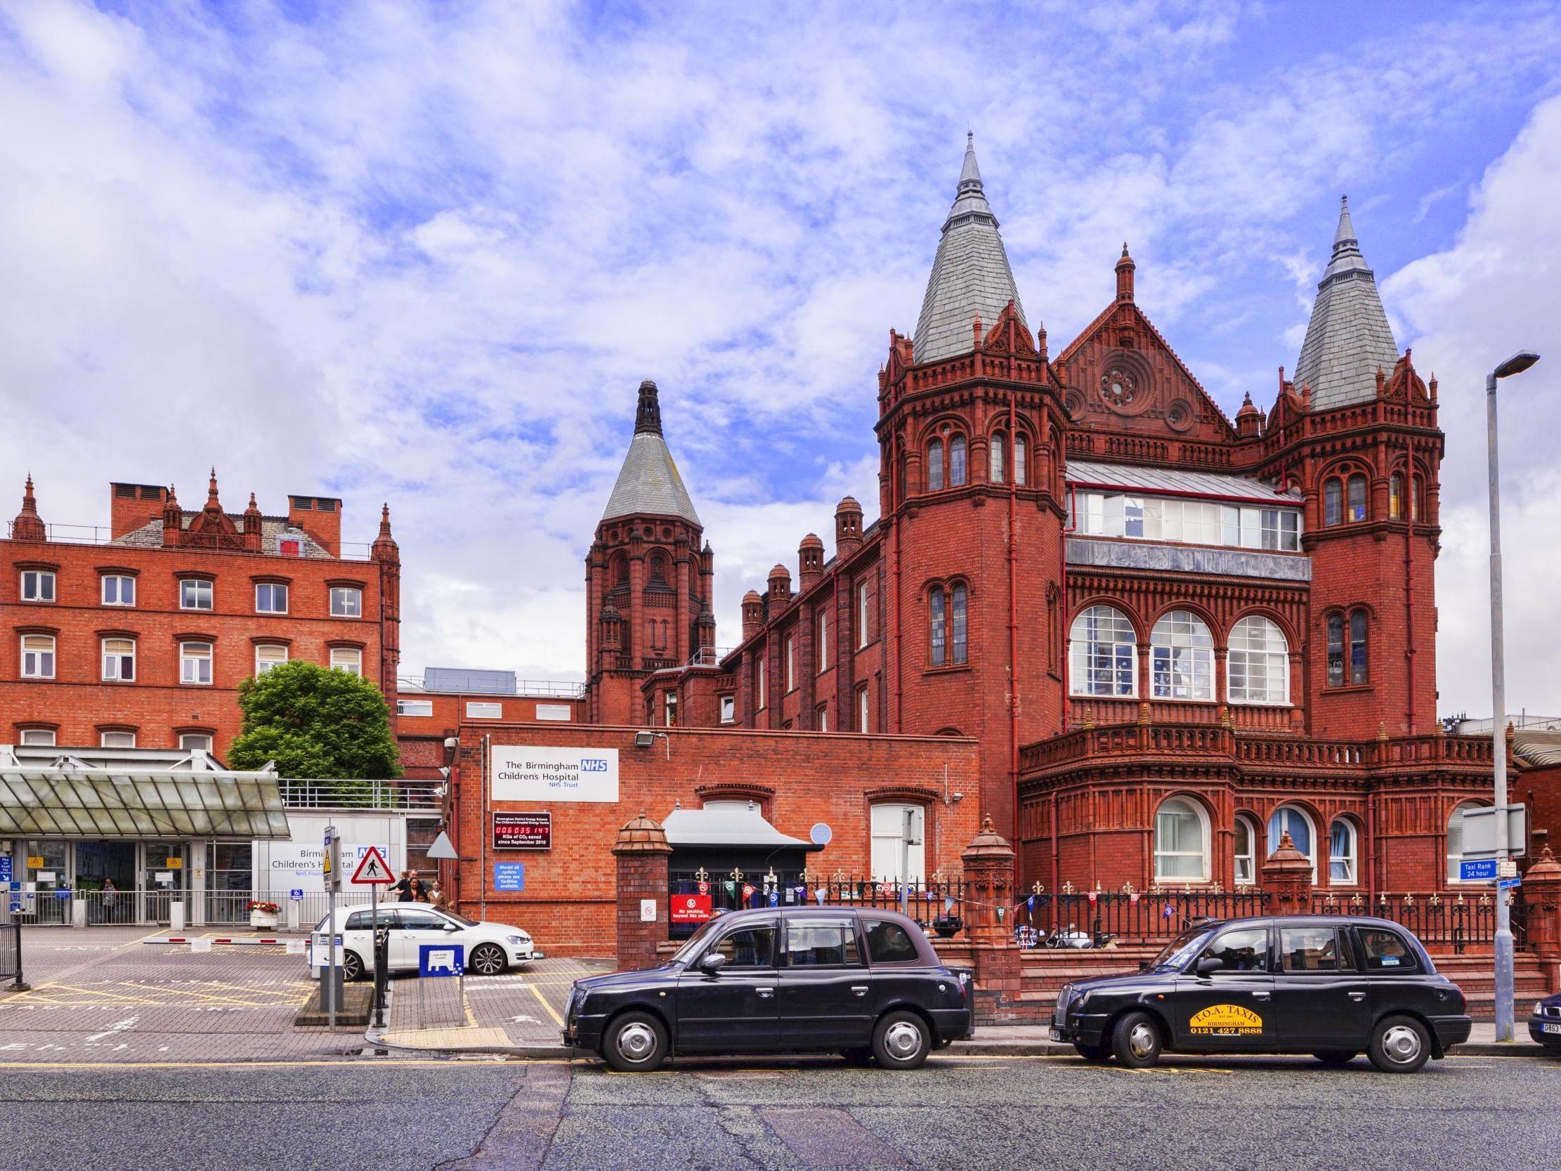
[[[912,337],[879,370],[879,518],[851,498],[743,600],[640,387],[587,556],[588,718],[979,742],[1026,884],[1225,888],[1282,832],[1319,887],[1449,884],[1489,746],[1436,720],[1436,381],[1349,208],[1293,376],[1227,418],[1115,294],[1052,353],[973,148]],[[1055,295],[1055,294],[1054,294]]]

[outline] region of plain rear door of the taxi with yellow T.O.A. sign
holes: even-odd
[[[1286,1049],[1364,1049],[1371,1040],[1366,976],[1355,970],[1349,929],[1280,923],[1274,1005]]]

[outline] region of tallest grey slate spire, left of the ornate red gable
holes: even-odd
[[[943,222],[943,239],[938,240],[927,292],[921,298],[921,317],[916,319],[912,342],[916,362],[969,353],[974,348],[971,323],[980,317],[982,328],[990,329],[1008,301],[1024,320],[1008,253],[997,234],[997,217],[991,214],[982,189],[974,141],[974,134],[965,136],[960,186]]]

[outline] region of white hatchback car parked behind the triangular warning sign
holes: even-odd
[[[417,971],[418,949],[425,943],[464,945],[467,971],[479,976],[496,976],[514,963],[529,963],[539,959],[531,935],[520,927],[512,927],[507,923],[468,920],[453,910],[436,910],[425,902],[382,904],[379,923],[390,929],[390,971]],[[315,956],[323,960],[329,946],[325,927],[326,920],[320,920],[309,935],[309,971],[312,976],[318,976]],[[368,907],[337,907],[336,931],[342,938],[342,977],[361,979],[373,970],[375,956],[375,934]]]

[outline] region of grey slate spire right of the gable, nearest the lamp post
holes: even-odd
[[[1369,403],[1377,397],[1377,368],[1391,375],[1397,361],[1399,343],[1377,295],[1377,278],[1355,239],[1346,195],[1333,234],[1333,259],[1317,284],[1294,383],[1297,389],[1311,384],[1313,411]]]

